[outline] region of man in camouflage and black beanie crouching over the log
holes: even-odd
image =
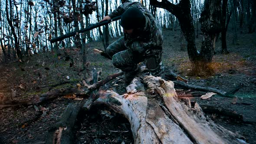
[[[140,72],[140,62],[146,62],[152,75],[163,73],[163,35],[159,23],[144,5],[127,0],[122,2],[101,21],[122,15],[120,25],[124,36],[108,46],[106,52],[112,57],[113,65],[125,73],[125,86],[128,86]]]

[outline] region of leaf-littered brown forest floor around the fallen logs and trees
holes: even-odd
[[[218,88],[225,92],[243,83],[243,88],[233,98],[213,97],[202,100],[191,98],[199,105],[215,106],[224,110],[235,111],[243,119],[230,118],[226,115],[207,113],[217,124],[243,135],[246,141],[256,144],[256,33],[238,34],[237,43],[233,44],[233,34],[227,35],[229,54],[222,55],[220,39],[216,43],[213,56],[215,73],[207,77],[188,76],[190,62],[187,52],[180,50],[180,31],[164,30],[163,62],[170,69],[189,80],[189,84]],[[200,48],[201,35],[196,39]],[[115,39],[112,39],[114,41]],[[92,52],[103,49],[101,42],[88,45],[88,71],[101,68],[101,78],[118,72],[111,61]],[[0,64],[0,106],[8,100],[30,99],[49,90],[59,88],[77,88],[82,84],[82,60],[79,52],[69,50],[74,63],[65,61],[63,55],[55,53],[34,55],[23,62]],[[91,76],[86,75],[87,79]],[[64,85],[61,82],[69,82]],[[55,85],[55,86],[53,86]],[[60,97],[40,105],[0,109],[1,144],[44,144],[51,126],[58,122],[69,103],[82,106],[86,98]],[[81,119],[81,118],[80,118]],[[76,144],[125,144],[133,143],[128,121],[107,108],[95,108],[84,111],[82,121],[77,121],[73,129]]]

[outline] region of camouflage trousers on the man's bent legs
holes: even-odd
[[[141,48],[143,49],[143,48]],[[132,72],[137,64],[145,62],[151,75],[158,76],[164,72],[162,64],[162,47],[139,50],[139,52],[128,49],[125,46],[125,39],[121,37],[106,49],[108,56],[112,57],[113,65],[123,72]]]

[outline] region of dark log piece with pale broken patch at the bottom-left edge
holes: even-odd
[[[58,123],[49,129],[46,144],[72,144],[72,128],[79,112],[79,106],[69,104]]]

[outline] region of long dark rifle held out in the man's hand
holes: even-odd
[[[83,33],[83,32],[86,32],[88,30],[92,30],[92,29],[95,29],[97,27],[100,27],[100,26],[104,26],[104,25],[107,25],[108,23],[111,23],[113,21],[116,21],[116,20],[119,20],[121,19],[121,16],[116,16],[116,17],[113,17],[111,20],[105,20],[105,21],[102,21],[100,23],[95,23],[95,24],[92,24],[91,26],[88,26],[87,28],[85,29],[80,29],[78,31],[74,31],[72,33],[67,33],[65,35],[62,35],[62,36],[59,36],[59,37],[56,37],[54,39],[51,39],[50,42],[51,43],[55,43],[55,42],[58,42],[58,41],[61,41],[62,39],[66,39],[68,37],[71,37],[71,36],[75,36],[76,33]]]

